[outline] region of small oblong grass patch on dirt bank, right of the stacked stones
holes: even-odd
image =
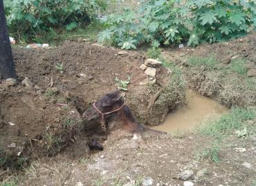
[[[215,69],[218,65],[218,60],[214,56],[190,56],[188,58],[188,64],[192,67],[194,66],[204,66],[208,69]]]

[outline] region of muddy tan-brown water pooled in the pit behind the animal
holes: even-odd
[[[186,96],[188,105],[183,105],[168,114],[162,125],[151,128],[170,133],[177,130],[192,130],[206,119],[228,111],[227,107],[217,103],[217,101],[203,97],[192,90],[188,90]]]

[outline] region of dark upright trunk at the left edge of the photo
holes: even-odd
[[[12,59],[12,49],[7,32],[6,15],[3,8],[3,0],[0,0],[0,78],[17,78],[15,63]]]

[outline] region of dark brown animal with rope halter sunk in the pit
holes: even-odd
[[[85,130],[91,134],[108,134],[117,130],[138,134],[166,134],[138,123],[125,105],[120,91],[100,97],[82,114],[82,119],[85,121]]]

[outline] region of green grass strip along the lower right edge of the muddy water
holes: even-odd
[[[205,123],[205,125],[199,128],[199,133],[208,136],[232,134],[234,130],[242,129],[244,121],[253,119],[255,116],[255,107],[233,107],[230,112]]]

